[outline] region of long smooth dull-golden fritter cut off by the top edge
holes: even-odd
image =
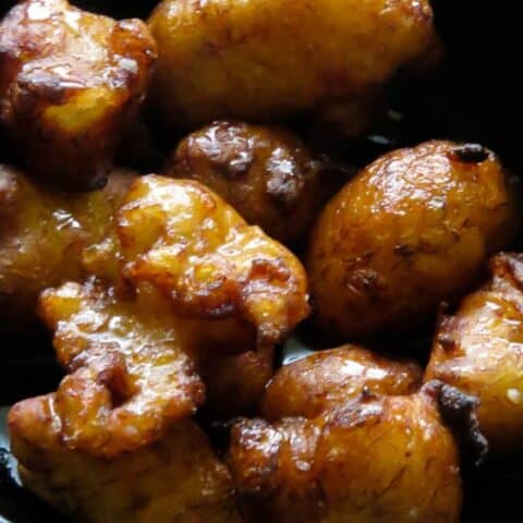
[[[427,0],[163,0],[154,102],[173,126],[316,110],[423,54],[431,19]]]

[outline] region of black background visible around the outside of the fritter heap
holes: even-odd
[[[73,3],[113,16],[146,16],[155,4],[147,0]],[[390,107],[403,114],[403,119],[401,123],[381,122],[370,133],[385,135],[389,139],[387,145],[366,138],[349,145],[348,150],[357,149],[362,156],[372,158],[386,148],[428,138],[479,142],[496,150],[516,174],[523,174],[520,130],[523,10],[518,3],[433,0],[447,51],[443,66],[423,81],[403,78],[392,85]],[[12,4],[0,0],[0,13]],[[45,339],[46,335],[37,331],[25,337],[0,337],[0,404],[54,388],[60,373],[52,350],[41,341]],[[58,516],[14,486],[5,458],[0,453],[0,521],[3,515],[13,523],[59,523]],[[516,487],[523,484],[522,464],[523,460],[512,457],[508,463],[487,463],[479,471],[465,471],[463,522],[521,521],[516,515]]]

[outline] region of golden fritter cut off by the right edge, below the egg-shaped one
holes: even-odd
[[[523,438],[523,255],[500,254],[478,291],[442,316],[427,368],[479,399],[479,428],[497,452]]]

